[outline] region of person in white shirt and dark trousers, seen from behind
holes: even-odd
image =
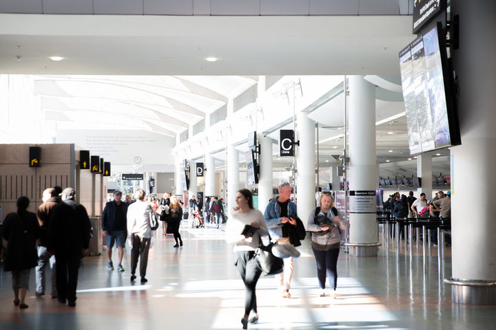
[[[152,241],[152,230],[150,228],[150,214],[154,212],[152,206],[145,202],[145,191],[137,189],[134,192],[136,202],[127,208],[127,233],[132,242],[131,249],[131,281],[136,280],[136,266],[140,259],[141,283],[148,280],[145,278],[148,263],[148,251]]]

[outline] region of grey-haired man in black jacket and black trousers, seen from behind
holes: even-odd
[[[90,218],[84,206],[74,201],[73,188],[62,191],[48,226],[48,250],[54,252],[57,263],[56,286],[59,302],[76,306],[79,265],[90,245]]]

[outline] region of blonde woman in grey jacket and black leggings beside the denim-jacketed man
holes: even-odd
[[[338,210],[333,208],[331,192],[323,191],[319,199],[320,207],[314,208],[309,215],[307,228],[311,232],[311,246],[316,257],[317,277],[320,285],[320,296],[325,296],[326,272],[333,292],[337,298],[338,256],[340,251],[341,229],[346,223],[338,217]]]

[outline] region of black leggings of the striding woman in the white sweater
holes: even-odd
[[[262,270],[255,259],[254,251],[236,252],[236,268],[245,283],[245,314],[249,315],[250,311],[257,311],[256,305],[256,283],[262,274]]]

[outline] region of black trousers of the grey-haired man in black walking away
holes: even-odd
[[[56,287],[59,299],[76,301],[76,288],[81,265],[81,252],[55,252]]]

